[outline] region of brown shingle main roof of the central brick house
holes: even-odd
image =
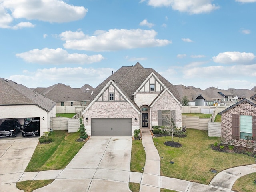
[[[94,99],[100,91],[106,86],[106,84],[113,80],[118,84],[118,87],[122,88],[122,92],[130,98],[130,100],[134,103],[134,92],[138,90],[138,88],[141,86],[141,84],[148,78],[148,76],[151,73],[154,73],[157,78],[166,86],[170,92],[176,97],[179,101],[180,96],[177,92],[177,89],[174,85],[172,85],[168,80],[166,80],[164,77],[162,77],[158,72],[153,70],[152,68],[144,68],[140,65],[140,63],[136,63],[134,66],[123,66],[119,68],[116,72],[114,72],[112,75],[110,75],[106,80],[104,80],[100,85],[98,85],[94,89],[94,93],[92,98]],[[134,103],[135,104],[135,103]],[[135,104],[136,105],[136,104]]]

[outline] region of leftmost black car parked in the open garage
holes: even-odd
[[[0,125],[0,137],[16,137],[21,131],[20,122],[16,119],[7,119]]]

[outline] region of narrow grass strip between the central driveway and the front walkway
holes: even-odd
[[[142,167],[145,166],[146,154],[142,145],[142,140],[132,141],[131,166],[132,172],[143,172]]]

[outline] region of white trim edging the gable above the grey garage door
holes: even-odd
[[[85,112],[91,108],[92,104],[94,104],[94,102],[96,102],[100,98],[100,96],[106,91],[106,89],[108,88],[108,86],[110,86],[110,84],[113,84],[114,88],[118,90],[119,94],[132,106],[132,108],[134,108],[134,110],[136,110],[136,112],[138,112],[138,114],[140,114],[140,111],[132,104],[132,102],[130,102],[130,100],[125,96],[125,94],[123,94],[123,92],[118,88],[118,86],[116,86],[114,81],[110,79],[110,81],[104,86],[104,88],[99,92],[99,94],[94,98],[94,100],[92,100],[92,102],[90,102],[88,107],[82,112],[82,115],[84,115]],[[111,101],[108,100],[106,102],[112,102],[112,100]]]

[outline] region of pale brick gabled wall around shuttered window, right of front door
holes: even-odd
[[[172,95],[165,91],[164,94],[156,103],[151,107],[151,120],[152,125],[157,125],[157,110],[175,110],[175,121],[177,127],[182,127],[182,106],[180,106],[177,101],[172,97]]]

